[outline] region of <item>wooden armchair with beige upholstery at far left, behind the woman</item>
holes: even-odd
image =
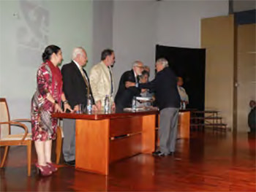
[[[16,119],[10,120],[10,113],[8,110],[7,101],[0,98],[0,146],[4,146],[4,157],[1,160],[1,168],[7,158],[9,146],[13,145],[26,145],[27,146],[27,159],[28,159],[28,176],[31,175],[31,134],[28,133],[26,125],[20,122],[31,122],[29,119]],[[24,134],[11,134],[10,126],[23,128]]]

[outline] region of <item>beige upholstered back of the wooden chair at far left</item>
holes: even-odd
[[[5,98],[0,98],[0,122],[10,121],[10,113]],[[10,124],[0,126],[0,139],[10,134]]]

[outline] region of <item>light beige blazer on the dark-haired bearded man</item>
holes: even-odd
[[[90,81],[91,81],[91,91],[94,95],[95,101],[102,101],[102,105],[104,104],[105,96],[111,95],[111,77],[112,74],[112,83],[113,83],[113,73],[111,69],[101,61],[99,64],[94,65],[91,68],[90,72]],[[113,85],[113,93],[114,93],[114,85]],[[111,96],[111,101],[113,101],[113,96]]]

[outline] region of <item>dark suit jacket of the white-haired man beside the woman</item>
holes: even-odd
[[[83,72],[86,74],[86,70],[83,69]],[[86,105],[88,88],[86,86],[86,82],[83,80],[83,76],[80,73],[78,66],[74,63],[74,61],[62,66],[61,74],[63,78],[63,91],[67,101],[69,101],[70,107],[73,108],[77,104]],[[87,74],[86,77],[89,82],[89,91],[94,103],[94,97],[91,92],[90,81]]]

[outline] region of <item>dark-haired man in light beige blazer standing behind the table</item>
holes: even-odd
[[[98,109],[102,109],[102,106],[104,106],[106,95],[110,96],[113,103],[112,108],[115,108],[115,103],[113,102],[113,74],[111,71],[113,64],[115,64],[115,53],[113,50],[107,49],[102,51],[99,64],[91,68],[89,77],[91,91]]]

